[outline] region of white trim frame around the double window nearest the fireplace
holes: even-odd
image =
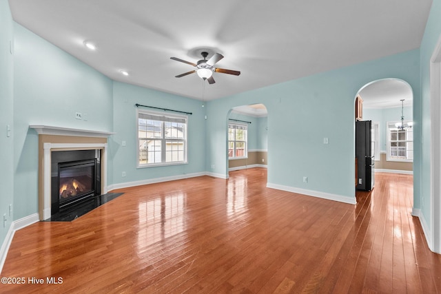
[[[169,116],[172,118],[183,118],[185,119],[185,133],[184,133],[184,141],[185,141],[185,151],[184,151],[184,160],[183,161],[178,161],[178,162],[157,162],[157,163],[148,163],[148,164],[140,164],[139,163],[139,113],[144,113],[144,114],[152,114],[152,115],[157,115],[157,116]],[[143,109],[139,109],[136,108],[136,118],[135,118],[135,123],[136,123],[136,143],[135,143],[135,147],[136,147],[136,168],[137,169],[144,169],[144,168],[148,168],[148,167],[165,167],[165,166],[170,166],[170,165],[187,165],[188,164],[188,116],[183,116],[183,115],[179,115],[179,114],[164,114],[163,112],[154,112],[151,110],[143,110]],[[162,129],[161,132],[164,132],[164,130]],[[165,148],[165,146],[164,146]]]

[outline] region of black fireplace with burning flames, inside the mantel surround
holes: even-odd
[[[101,151],[53,151],[51,215],[101,195]]]

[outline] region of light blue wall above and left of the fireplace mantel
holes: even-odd
[[[38,211],[38,135],[29,125],[112,132],[112,81],[14,23],[14,219]],[[76,120],[75,112],[87,114]]]

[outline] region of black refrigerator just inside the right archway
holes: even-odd
[[[358,190],[371,191],[374,184],[373,168],[375,166],[375,150],[373,149],[372,121],[361,120],[356,122],[356,158],[358,162],[357,186]]]

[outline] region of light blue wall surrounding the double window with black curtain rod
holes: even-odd
[[[188,116],[188,164],[136,168],[136,103],[183,112]],[[148,110],[149,108],[141,107]],[[150,109],[158,111],[156,109]],[[173,112],[171,112],[173,113]],[[205,107],[201,101],[114,82],[114,132],[110,141],[113,173],[110,183],[135,182],[205,171]],[[125,140],[127,145],[121,146]],[[122,171],[126,177],[122,177]]]

